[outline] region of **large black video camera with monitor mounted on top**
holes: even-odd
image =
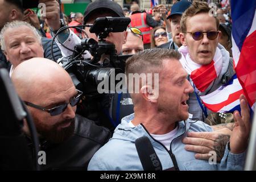
[[[130,21],[130,18],[97,18],[94,24],[88,26],[89,31],[98,36],[98,42],[92,38],[82,39],[81,43],[75,46],[72,56],[61,60],[76,88],[82,90],[85,96],[98,95],[97,87],[102,81],[105,82],[104,85],[108,85],[106,88],[110,93],[115,92],[113,88],[118,82],[113,82],[110,77],[115,78],[118,73],[125,72],[125,61],[129,56],[117,55],[115,45],[106,42],[105,38],[110,32],[125,31]],[[86,50],[93,56],[92,59],[82,57]]]

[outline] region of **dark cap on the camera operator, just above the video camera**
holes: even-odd
[[[89,3],[86,10],[84,11],[84,24],[86,24],[90,18],[90,15],[92,15],[96,10],[108,10],[110,13],[115,14],[114,17],[125,17],[125,15],[123,15],[122,7],[118,5],[118,3],[110,0],[96,0]]]

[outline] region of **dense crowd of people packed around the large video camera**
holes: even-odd
[[[96,0],[84,14],[62,15],[62,21],[58,1],[40,2],[47,9],[43,19],[23,10],[19,1],[0,0],[0,64],[34,120],[47,153],[42,169],[143,170],[135,145],[142,137],[150,140],[163,170],[243,169],[250,134],[246,97],[240,96],[241,113],[229,113],[231,119],[220,119],[199,98],[235,73],[229,6],[218,6],[217,16],[209,16],[206,2],[181,0],[170,10],[158,5],[148,14],[137,3],[129,10]],[[125,31],[110,32],[105,40],[117,55],[130,55],[127,77],[158,73],[158,94],[156,83],[138,82],[135,93],[135,83],[128,80],[133,84],[127,93],[87,96],[61,67],[57,60],[72,55],[82,38],[99,41],[82,24],[106,16],[131,19]],[[79,28],[62,31],[52,48],[52,37],[65,25]],[[83,57],[91,59],[92,52],[86,50]],[[97,64],[105,60],[102,56]],[[32,155],[26,121],[23,131]],[[217,155],[213,165],[211,151]]]

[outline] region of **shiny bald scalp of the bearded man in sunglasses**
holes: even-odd
[[[19,64],[11,76],[22,100],[31,101],[44,94],[64,92],[73,87],[68,73],[57,63],[36,57]]]

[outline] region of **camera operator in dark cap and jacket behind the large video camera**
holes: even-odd
[[[46,21],[47,24],[56,33],[62,26],[59,21],[59,6],[56,1],[40,1],[46,3]],[[54,7],[53,7],[54,6]],[[52,11],[50,11],[52,10]],[[125,17],[121,6],[117,3],[109,0],[94,1],[88,5],[84,13],[84,24],[93,23],[96,18],[113,16],[113,17]],[[85,27],[85,32],[89,38],[93,38],[98,41],[96,34],[89,32],[89,27]],[[113,43],[117,51],[117,55],[122,52],[122,45],[126,42],[127,32],[110,32],[106,37],[107,43]],[[64,46],[73,49],[76,44],[79,44],[81,40],[71,30],[64,31],[58,35],[60,42]],[[72,55],[72,51],[65,49],[61,44],[58,46],[63,53],[63,56]],[[88,57],[88,53],[85,55]],[[90,55],[89,55],[90,57]],[[121,121],[122,117],[133,113],[133,105],[129,94],[101,94],[97,98],[86,97],[86,101],[83,101],[83,108],[79,113],[86,118],[96,121],[98,125],[104,125],[111,130]],[[119,113],[119,114],[116,114]]]

